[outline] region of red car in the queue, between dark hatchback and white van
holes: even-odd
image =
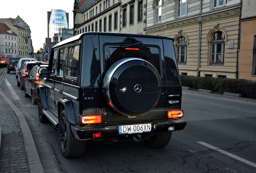
[[[21,65],[21,69],[17,74],[17,86],[21,87],[21,90],[24,90],[24,82],[29,74],[30,70],[41,61],[25,61]],[[47,62],[41,62],[41,64],[48,64]],[[25,75],[22,75],[25,74]]]

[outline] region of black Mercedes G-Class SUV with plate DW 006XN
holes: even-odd
[[[86,32],[56,44],[38,88],[39,121],[59,131],[61,153],[79,157],[86,140],[168,145],[183,130],[182,86],[173,39]]]

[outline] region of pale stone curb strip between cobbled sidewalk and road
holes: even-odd
[[[29,129],[29,125],[27,124],[27,121],[24,117],[24,115],[21,113],[21,111],[8,99],[8,97],[0,90],[0,95],[4,98],[4,100],[10,105],[14,113],[17,115],[19,119],[19,123],[21,126],[21,132],[23,135],[23,141],[25,145],[25,151],[27,155],[27,163],[29,166],[29,171],[31,173],[44,173],[43,167],[37,152],[37,148],[35,146],[35,142],[32,136],[32,133]],[[2,136],[2,127],[1,127],[1,135]],[[1,147],[1,146],[0,146]]]

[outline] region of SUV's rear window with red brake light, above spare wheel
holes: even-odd
[[[160,49],[153,46],[106,45],[104,48],[106,70],[116,61],[124,58],[141,58],[150,62],[160,72]]]

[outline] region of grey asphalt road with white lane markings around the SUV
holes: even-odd
[[[167,147],[88,141],[82,157],[65,159],[58,131],[51,123],[38,121],[37,105],[24,97],[14,73],[5,75],[3,86],[7,89],[6,80],[11,87],[5,94],[25,115],[45,173],[256,172],[256,102],[184,91],[182,109],[187,126],[173,133]]]

